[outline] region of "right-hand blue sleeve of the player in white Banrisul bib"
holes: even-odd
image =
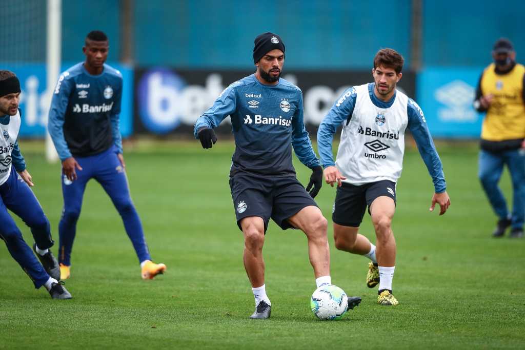
[[[434,146],[432,136],[430,136],[428,131],[423,111],[414,100],[408,99],[407,112],[408,129],[414,136],[417,149],[423,158],[423,162],[425,162],[428,173],[432,176],[435,192],[443,193],[447,189],[445,174],[443,174],[443,164],[439,159],[436,146]]]

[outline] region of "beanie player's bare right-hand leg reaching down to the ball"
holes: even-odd
[[[330,247],[328,246],[328,221],[318,207],[308,206],[288,218],[293,227],[308,238],[308,254],[316,279],[330,276]]]

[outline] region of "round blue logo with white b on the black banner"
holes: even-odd
[[[181,92],[186,82],[169,69],[146,72],[137,87],[139,115],[144,126],[164,134],[182,121]]]

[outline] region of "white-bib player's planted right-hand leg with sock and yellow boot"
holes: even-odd
[[[370,204],[370,214],[377,238],[376,258],[379,264],[379,297],[382,305],[396,305],[392,295],[392,278],[395,269],[395,239],[392,232],[392,218],[395,213],[394,200],[387,196],[374,199]]]

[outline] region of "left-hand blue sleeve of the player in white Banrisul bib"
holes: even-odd
[[[332,155],[333,134],[345,120],[350,121],[354,112],[357,94],[354,88],[346,90],[341,98],[333,104],[330,111],[324,117],[317,130],[317,146],[321,156],[322,166],[328,167],[335,165]]]

